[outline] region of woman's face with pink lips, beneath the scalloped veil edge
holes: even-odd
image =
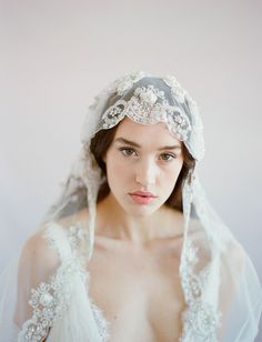
[[[111,194],[123,210],[144,217],[172,193],[183,165],[182,143],[164,123],[124,118],[104,155]]]

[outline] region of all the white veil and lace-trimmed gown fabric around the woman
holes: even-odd
[[[110,322],[87,295],[89,273],[83,268],[92,258],[97,198],[107,181],[90,142],[124,117],[141,124],[164,122],[196,163],[203,158],[198,105],[174,77],[131,73],[98,94],[61,197],[1,275],[0,342],[110,338]],[[187,308],[180,342],[254,341],[262,308],[260,281],[249,255],[208,202],[195,168],[183,181],[181,205],[179,275]],[[77,213],[84,208],[89,221],[83,225]]]

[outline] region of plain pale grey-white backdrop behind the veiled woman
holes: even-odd
[[[144,70],[196,100],[201,181],[262,279],[261,16],[259,0],[1,0],[0,271],[58,195],[92,97]]]

